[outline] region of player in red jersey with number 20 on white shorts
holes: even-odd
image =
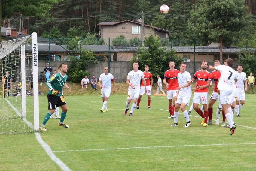
[[[152,73],[148,71],[149,70],[148,65],[145,65],[144,69],[145,69],[145,71],[143,72],[143,74],[144,74],[144,78],[145,78],[146,86],[147,86],[146,95],[148,95],[148,109],[152,109],[150,107],[150,103],[151,103],[151,90],[152,90],[152,85],[153,85],[153,78],[152,78]],[[140,87],[140,92],[139,92],[139,98],[138,98],[137,106],[135,107],[135,109],[139,109],[140,99],[141,99],[142,95],[144,95],[144,93],[145,93],[145,86],[142,81],[141,87]]]

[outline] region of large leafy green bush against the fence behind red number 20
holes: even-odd
[[[148,46],[148,50],[145,46]],[[164,72],[169,69],[169,61],[174,61],[177,69],[182,62],[182,58],[175,55],[173,49],[166,50],[166,47],[160,46],[157,36],[150,35],[146,38],[145,46],[139,47],[139,52],[132,58],[131,63],[138,61],[140,70],[144,70],[144,66],[148,65],[154,81],[157,81],[157,75],[164,76]]]

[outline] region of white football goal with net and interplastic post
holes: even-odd
[[[38,131],[37,73],[36,33],[0,42],[0,134]]]

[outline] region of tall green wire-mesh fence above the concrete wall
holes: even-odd
[[[79,57],[84,50],[93,52],[99,61],[130,61],[138,53],[138,47],[145,44],[140,39],[83,39],[83,38],[49,38],[38,40],[38,58],[44,61],[69,61],[70,56]],[[236,41],[232,47],[223,47],[223,60],[232,58],[237,61],[245,52],[255,53],[256,41]],[[184,61],[215,61],[220,59],[218,43],[203,46],[197,40],[162,39],[160,46],[167,50],[174,49]],[[145,49],[148,47],[146,46]]]

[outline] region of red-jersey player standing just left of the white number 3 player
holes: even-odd
[[[167,98],[169,100],[169,118],[173,118],[174,115],[174,108],[175,108],[175,101],[177,99],[178,90],[177,87],[179,86],[178,83],[178,73],[180,73],[180,70],[174,69],[175,63],[174,61],[169,62],[170,69],[165,71],[164,77],[163,77],[163,83],[166,86],[167,89]],[[167,80],[167,82],[166,82]],[[172,98],[173,98],[173,104],[172,104]]]

